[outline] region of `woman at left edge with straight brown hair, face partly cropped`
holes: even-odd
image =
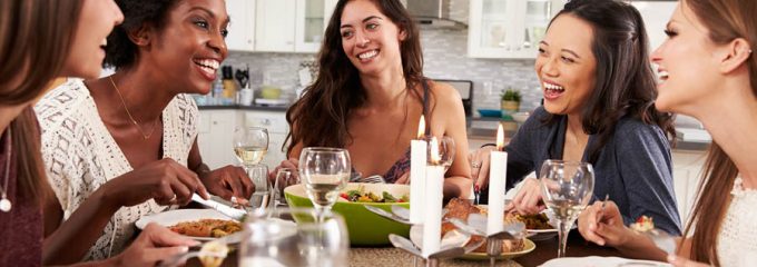
[[[110,0],[0,1],[0,266],[59,264],[43,248],[42,206],[55,196],[31,106],[57,77],[97,77],[104,40],[122,18]],[[124,254],[80,266],[151,266],[193,245],[150,224]]]

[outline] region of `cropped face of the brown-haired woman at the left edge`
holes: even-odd
[[[102,70],[106,38],[124,14],[114,0],[83,0],[62,77],[97,78]]]

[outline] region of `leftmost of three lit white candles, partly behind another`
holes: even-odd
[[[417,139],[410,141],[410,222],[423,224],[423,190],[427,142],[424,140],[425,119],[421,115]]]

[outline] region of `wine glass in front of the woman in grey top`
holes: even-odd
[[[594,190],[591,164],[548,159],[541,166],[541,189],[547,207],[558,220],[558,257],[566,256],[568,233]]]

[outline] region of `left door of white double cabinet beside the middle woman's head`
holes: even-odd
[[[255,50],[294,51],[296,0],[257,0]]]

